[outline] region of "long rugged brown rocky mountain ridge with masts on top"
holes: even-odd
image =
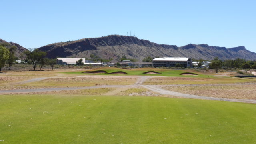
[[[256,60],[256,53],[246,50],[244,46],[226,48],[209,46],[208,44],[187,44],[185,46],[156,44],[149,40],[138,39],[133,36],[110,35],[99,38],[83,38],[75,41],[59,42],[42,46],[39,50],[47,52],[53,57],[87,57],[90,54],[101,58],[136,58],[142,60],[151,57],[190,57],[194,59],[221,60],[243,58]]]

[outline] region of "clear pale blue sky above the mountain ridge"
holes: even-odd
[[[1,0],[0,38],[38,48],[132,30],[158,44],[256,52],[255,6],[255,0]]]

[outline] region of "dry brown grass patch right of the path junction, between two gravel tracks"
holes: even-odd
[[[166,90],[217,98],[256,99],[256,84],[219,86],[163,86]]]

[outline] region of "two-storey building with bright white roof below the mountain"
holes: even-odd
[[[154,67],[175,67],[176,64],[180,64],[182,67],[192,68],[191,58],[154,58],[152,62]]]

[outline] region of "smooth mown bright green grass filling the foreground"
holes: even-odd
[[[255,104],[143,96],[0,96],[3,144],[252,144],[255,122]]]

